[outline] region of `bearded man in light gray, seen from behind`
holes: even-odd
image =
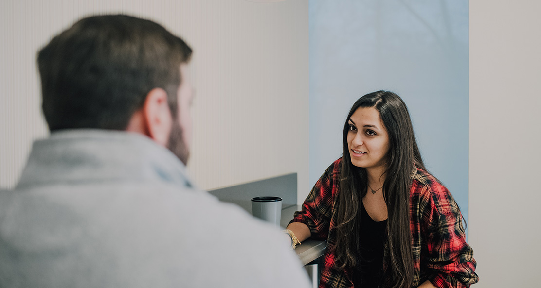
[[[51,136],[0,194],[0,287],[308,286],[282,233],[187,177],[191,53],[124,15],[38,52]]]

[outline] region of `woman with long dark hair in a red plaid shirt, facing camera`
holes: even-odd
[[[478,281],[461,213],[430,175],[396,94],[362,96],[344,125],[344,155],[287,226],[294,244],[327,240],[323,287],[468,287]]]

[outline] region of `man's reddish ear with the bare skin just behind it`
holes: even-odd
[[[154,88],[148,92],[143,108],[134,113],[127,130],[143,133],[166,147],[172,125],[173,117],[169,110],[167,92]]]

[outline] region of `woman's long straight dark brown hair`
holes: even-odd
[[[344,124],[344,156],[338,185],[335,267],[344,269],[358,264],[359,221],[362,197],[367,191],[365,168],[354,166],[349,155],[348,119],[358,108],[373,107],[389,137],[386,155],[383,196],[387,204],[387,255],[384,271],[386,285],[409,288],[413,279],[413,255],[410,231],[410,175],[414,164],[423,170],[423,159],[413,134],[410,113],[404,101],[395,93],[377,91],[359,98],[352,106]]]

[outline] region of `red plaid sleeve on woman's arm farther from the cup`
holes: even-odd
[[[426,229],[428,279],[440,288],[477,283],[476,260],[466,243],[460,210],[451,193],[429,175],[412,184],[424,202],[421,217]]]

